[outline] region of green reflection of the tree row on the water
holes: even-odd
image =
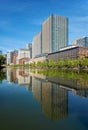
[[[37,73],[38,74],[43,74],[49,77],[61,77],[61,78],[65,78],[65,79],[83,79],[88,81],[88,74],[84,73],[84,72],[78,72],[75,73],[73,71],[66,71],[66,70],[52,70],[52,69],[32,69],[31,70],[33,73]]]

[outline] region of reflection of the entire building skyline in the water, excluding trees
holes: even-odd
[[[68,116],[68,90],[88,97],[86,86],[75,79],[46,78],[38,73],[33,74],[28,69],[7,69],[7,80],[32,90],[33,97],[41,104],[42,112],[51,120],[61,120]]]

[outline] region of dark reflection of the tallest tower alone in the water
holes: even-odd
[[[68,116],[68,93],[58,84],[42,82],[42,112],[51,120]]]

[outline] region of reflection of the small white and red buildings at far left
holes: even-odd
[[[32,77],[27,69],[7,69],[7,81],[25,85],[27,90],[32,90]]]

